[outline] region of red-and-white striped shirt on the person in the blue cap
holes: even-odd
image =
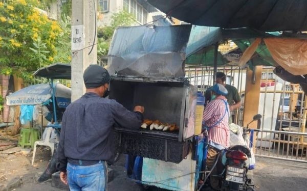
[[[224,96],[218,96],[207,104],[203,115],[203,126],[209,127],[209,141],[227,148],[229,147],[230,138],[228,126],[229,106],[225,102],[227,103],[227,99]],[[228,112],[226,112],[226,108]],[[216,124],[216,122],[218,123]]]

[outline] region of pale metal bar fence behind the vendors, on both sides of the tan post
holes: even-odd
[[[255,136],[255,155],[268,158],[307,162],[305,123],[307,97],[299,85],[283,81],[273,73],[273,67],[262,67],[258,111],[262,115],[260,132]],[[186,77],[205,93],[214,84],[213,67],[188,66]],[[246,69],[235,65],[218,67],[227,75],[227,84],[245,94]],[[244,99],[234,115],[234,123],[243,126]]]

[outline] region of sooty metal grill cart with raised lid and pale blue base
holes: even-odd
[[[169,190],[194,190],[199,177],[194,136],[197,91],[184,78],[190,30],[191,25],[118,28],[108,52],[109,99],[129,110],[143,105],[144,119],[178,127],[115,128],[116,150],[129,155],[127,166],[132,163],[135,169],[131,178]]]

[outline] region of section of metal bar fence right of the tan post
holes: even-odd
[[[307,162],[305,133],[307,97],[299,85],[262,69],[259,111],[262,115],[255,155]],[[265,74],[265,75],[264,75]]]

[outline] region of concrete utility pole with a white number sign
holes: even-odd
[[[72,101],[85,93],[83,72],[97,64],[97,0],[72,1]]]

